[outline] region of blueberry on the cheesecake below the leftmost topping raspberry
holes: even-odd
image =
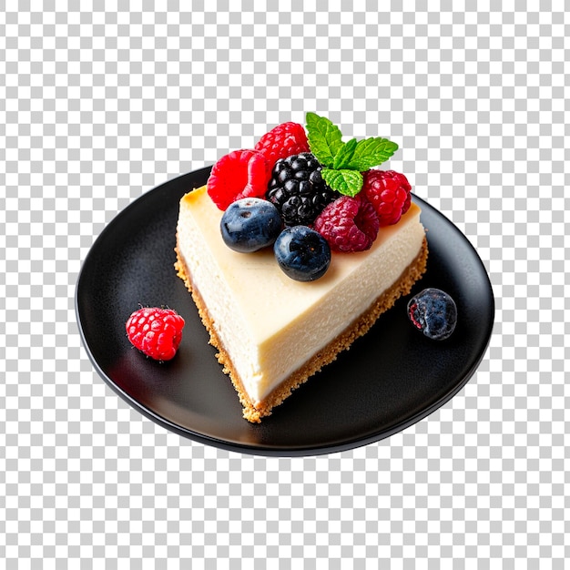
[[[219,223],[224,243],[241,253],[270,246],[279,236],[281,226],[279,210],[261,198],[232,202]]]

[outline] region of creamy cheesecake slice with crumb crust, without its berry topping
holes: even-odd
[[[249,422],[260,422],[348,349],[425,271],[427,241],[415,204],[380,229],[371,249],[333,253],[327,273],[311,282],[287,277],[272,249],[229,249],[221,216],[205,186],[180,200],[176,269]]]

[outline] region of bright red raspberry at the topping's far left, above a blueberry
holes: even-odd
[[[234,150],[220,158],[208,178],[208,194],[219,209],[240,198],[260,198],[271,176],[270,163],[257,150]]]

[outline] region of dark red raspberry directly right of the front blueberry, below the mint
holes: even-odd
[[[380,222],[372,204],[361,194],[341,196],[322,210],[315,229],[335,251],[370,249],[378,235]]]

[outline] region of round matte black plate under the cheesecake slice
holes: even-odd
[[[101,232],[76,286],[79,330],[103,380],[168,430],[243,453],[306,455],[372,443],[418,422],[459,392],[491,337],[494,296],[483,263],[453,223],[422,199],[428,270],[412,294],[438,287],[459,322],[430,341],[406,316],[409,297],[382,315],[350,351],[315,375],[260,424],[241,416],[229,378],[173,264],[178,201],[206,183],[202,168],[148,191]],[[125,322],[138,304],[168,305],[186,320],[177,356],[164,364],[131,348]]]

